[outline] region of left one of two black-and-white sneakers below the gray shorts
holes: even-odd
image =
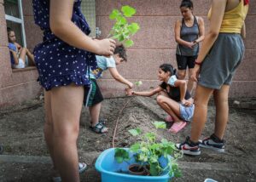
[[[187,154],[190,156],[199,156],[201,154],[199,142],[194,143],[190,141],[189,137],[187,137],[182,144],[177,144],[176,147],[178,150],[183,151],[183,154]]]

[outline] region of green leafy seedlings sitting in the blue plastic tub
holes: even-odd
[[[152,122],[155,128],[166,128],[165,122]],[[130,129],[129,133],[133,136],[142,134],[140,128]],[[169,142],[167,139],[157,141],[156,134],[146,133],[143,137],[138,138],[137,142],[129,148],[128,151],[119,149],[116,151],[115,158],[119,162],[127,162],[129,154],[126,152],[131,151],[134,154],[136,161],[140,164],[140,168],[149,166],[149,172],[152,176],[159,176],[164,171],[168,170],[169,175],[175,177],[181,176],[181,171],[178,168],[177,159],[183,156],[183,152],[177,150],[174,143]],[[159,162],[160,157],[166,157],[166,167],[162,167]]]

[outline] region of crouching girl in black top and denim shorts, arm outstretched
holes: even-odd
[[[143,92],[128,90],[127,94],[147,97],[158,94],[157,104],[170,115],[167,121],[173,122],[169,131],[176,134],[193,117],[193,99],[187,91],[186,81],[177,79],[176,70],[172,65],[160,65],[158,77],[162,83],[157,88]]]

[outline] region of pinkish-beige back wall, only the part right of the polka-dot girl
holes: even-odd
[[[157,80],[158,67],[162,63],[172,63],[175,60],[176,43],[174,39],[174,23],[181,19],[179,11],[180,0],[96,0],[96,26],[102,31],[102,38],[107,37],[113,26],[108,19],[112,9],[120,9],[123,5],[130,5],[137,9],[137,14],[131,21],[139,23],[141,30],[132,37],[135,44],[128,50],[128,62],[119,65],[119,72],[132,82],[143,81],[141,89],[149,89],[160,82]],[[194,0],[194,14],[202,16],[206,27],[207,9],[210,0]],[[256,1],[251,0],[247,16],[246,54],[236,72],[236,77],[230,88],[230,97],[255,97],[256,92]],[[206,28],[206,31],[208,28]],[[105,74],[100,85],[106,96],[123,95],[125,88],[122,84],[113,82],[109,74]]]

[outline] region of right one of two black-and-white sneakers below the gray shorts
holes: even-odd
[[[218,139],[215,134],[212,134],[209,138],[200,141],[200,146],[213,151],[224,152],[224,140]]]

